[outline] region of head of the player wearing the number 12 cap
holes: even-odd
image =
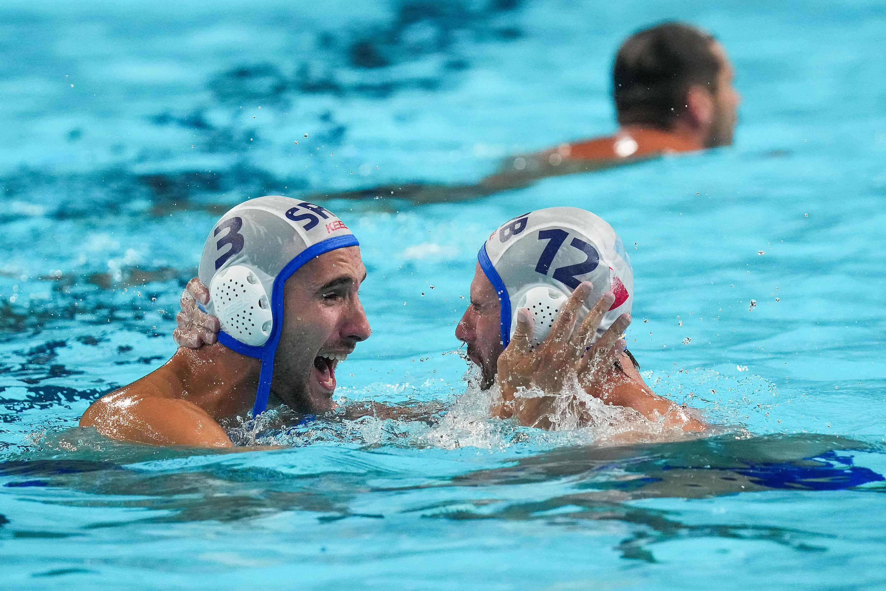
[[[533,315],[533,338],[548,334],[556,313],[583,281],[594,284],[587,304],[612,292],[616,299],[603,316],[596,337],[633,303],[631,261],[612,227],[578,207],[548,207],[506,222],[480,249],[470,305],[455,330],[468,356],[493,384],[498,358],[517,326],[517,309]],[[581,319],[588,307],[579,311]],[[595,337],[595,338],[596,338]]]

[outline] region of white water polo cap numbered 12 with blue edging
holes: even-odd
[[[588,301],[603,293],[615,302],[603,315],[595,339],[619,315],[631,311],[633,271],[621,238],[599,216],[578,207],[548,207],[518,215],[496,229],[480,248],[478,261],[501,302],[501,344],[517,328],[517,310],[534,317],[532,340],[548,336],[557,313],[583,281],[594,284]],[[577,323],[589,309],[582,306]]]

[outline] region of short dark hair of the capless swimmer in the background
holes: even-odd
[[[670,129],[686,108],[692,84],[717,91],[716,41],[696,27],[665,22],[622,43],[612,66],[612,95],[620,125]]]

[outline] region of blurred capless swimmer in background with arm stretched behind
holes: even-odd
[[[505,159],[473,185],[399,183],[312,198],[408,198],[459,201],[524,187],[555,175],[617,167],[665,153],[730,145],[741,97],[726,50],[703,30],[680,22],[645,28],[627,38],[612,66],[618,130],[541,152]]]

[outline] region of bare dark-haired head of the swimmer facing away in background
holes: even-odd
[[[638,31],[612,67],[618,123],[681,128],[705,147],[732,144],[741,101],[733,74],[726,50],[701,29],[664,22]]]

